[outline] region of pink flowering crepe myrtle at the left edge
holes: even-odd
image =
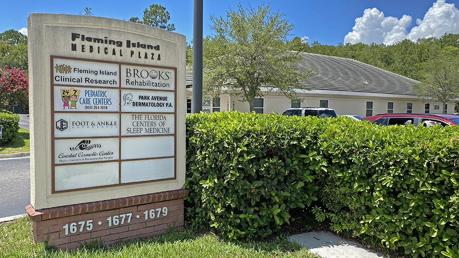
[[[19,68],[0,68],[0,107],[29,105],[28,74]]]

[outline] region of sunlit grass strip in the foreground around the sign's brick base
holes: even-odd
[[[211,234],[198,234],[185,229],[168,230],[156,238],[134,240],[107,247],[93,242],[73,251],[61,251],[34,244],[32,222],[23,217],[0,224],[0,257],[303,257],[320,258],[298,244],[290,243],[286,236],[272,242],[231,242]]]

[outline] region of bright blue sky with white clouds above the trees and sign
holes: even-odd
[[[212,34],[210,15],[226,16],[228,7],[238,4],[257,7],[267,1],[203,0],[203,34]],[[90,7],[94,16],[125,19],[143,16],[151,4],[160,4],[170,13],[175,32],[193,37],[193,0],[159,1],[5,1],[0,10],[0,32],[14,29],[27,32],[27,17],[33,12],[84,14]],[[459,34],[459,0],[272,0],[273,11],[285,14],[295,25],[293,36],[310,43],[337,45],[349,43],[393,44],[397,40]],[[290,37],[290,38],[293,38]]]

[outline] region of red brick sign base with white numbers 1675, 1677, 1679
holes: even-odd
[[[33,221],[34,242],[75,249],[90,241],[113,244],[164,233],[184,225],[183,197],[188,190],[132,196],[35,210],[25,207]]]

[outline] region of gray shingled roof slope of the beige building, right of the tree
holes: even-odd
[[[416,95],[418,81],[348,58],[299,53],[299,71],[310,66],[319,74],[301,82],[308,89]],[[365,83],[367,82],[367,83]]]

